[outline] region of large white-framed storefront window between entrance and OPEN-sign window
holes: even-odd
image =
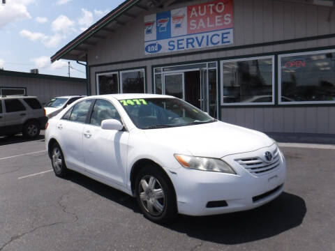
[[[221,61],[222,105],[274,103],[274,58]]]

